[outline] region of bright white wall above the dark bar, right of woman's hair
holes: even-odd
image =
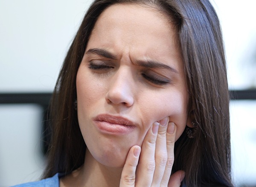
[[[211,1],[223,30],[230,89],[256,88],[256,1]]]

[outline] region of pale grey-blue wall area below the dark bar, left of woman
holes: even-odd
[[[44,169],[41,108],[0,105],[0,186],[37,180]]]

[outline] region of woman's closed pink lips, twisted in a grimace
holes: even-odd
[[[130,133],[136,127],[134,122],[121,117],[109,114],[101,114],[93,119],[96,127],[103,133],[124,134]]]

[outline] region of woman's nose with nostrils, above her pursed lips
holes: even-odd
[[[109,104],[125,105],[126,107],[132,106],[134,104],[133,85],[134,80],[131,70],[122,71],[119,69],[111,77],[105,97],[106,101]]]

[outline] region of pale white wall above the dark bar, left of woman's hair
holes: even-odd
[[[90,0],[0,0],[0,91],[52,91]]]

